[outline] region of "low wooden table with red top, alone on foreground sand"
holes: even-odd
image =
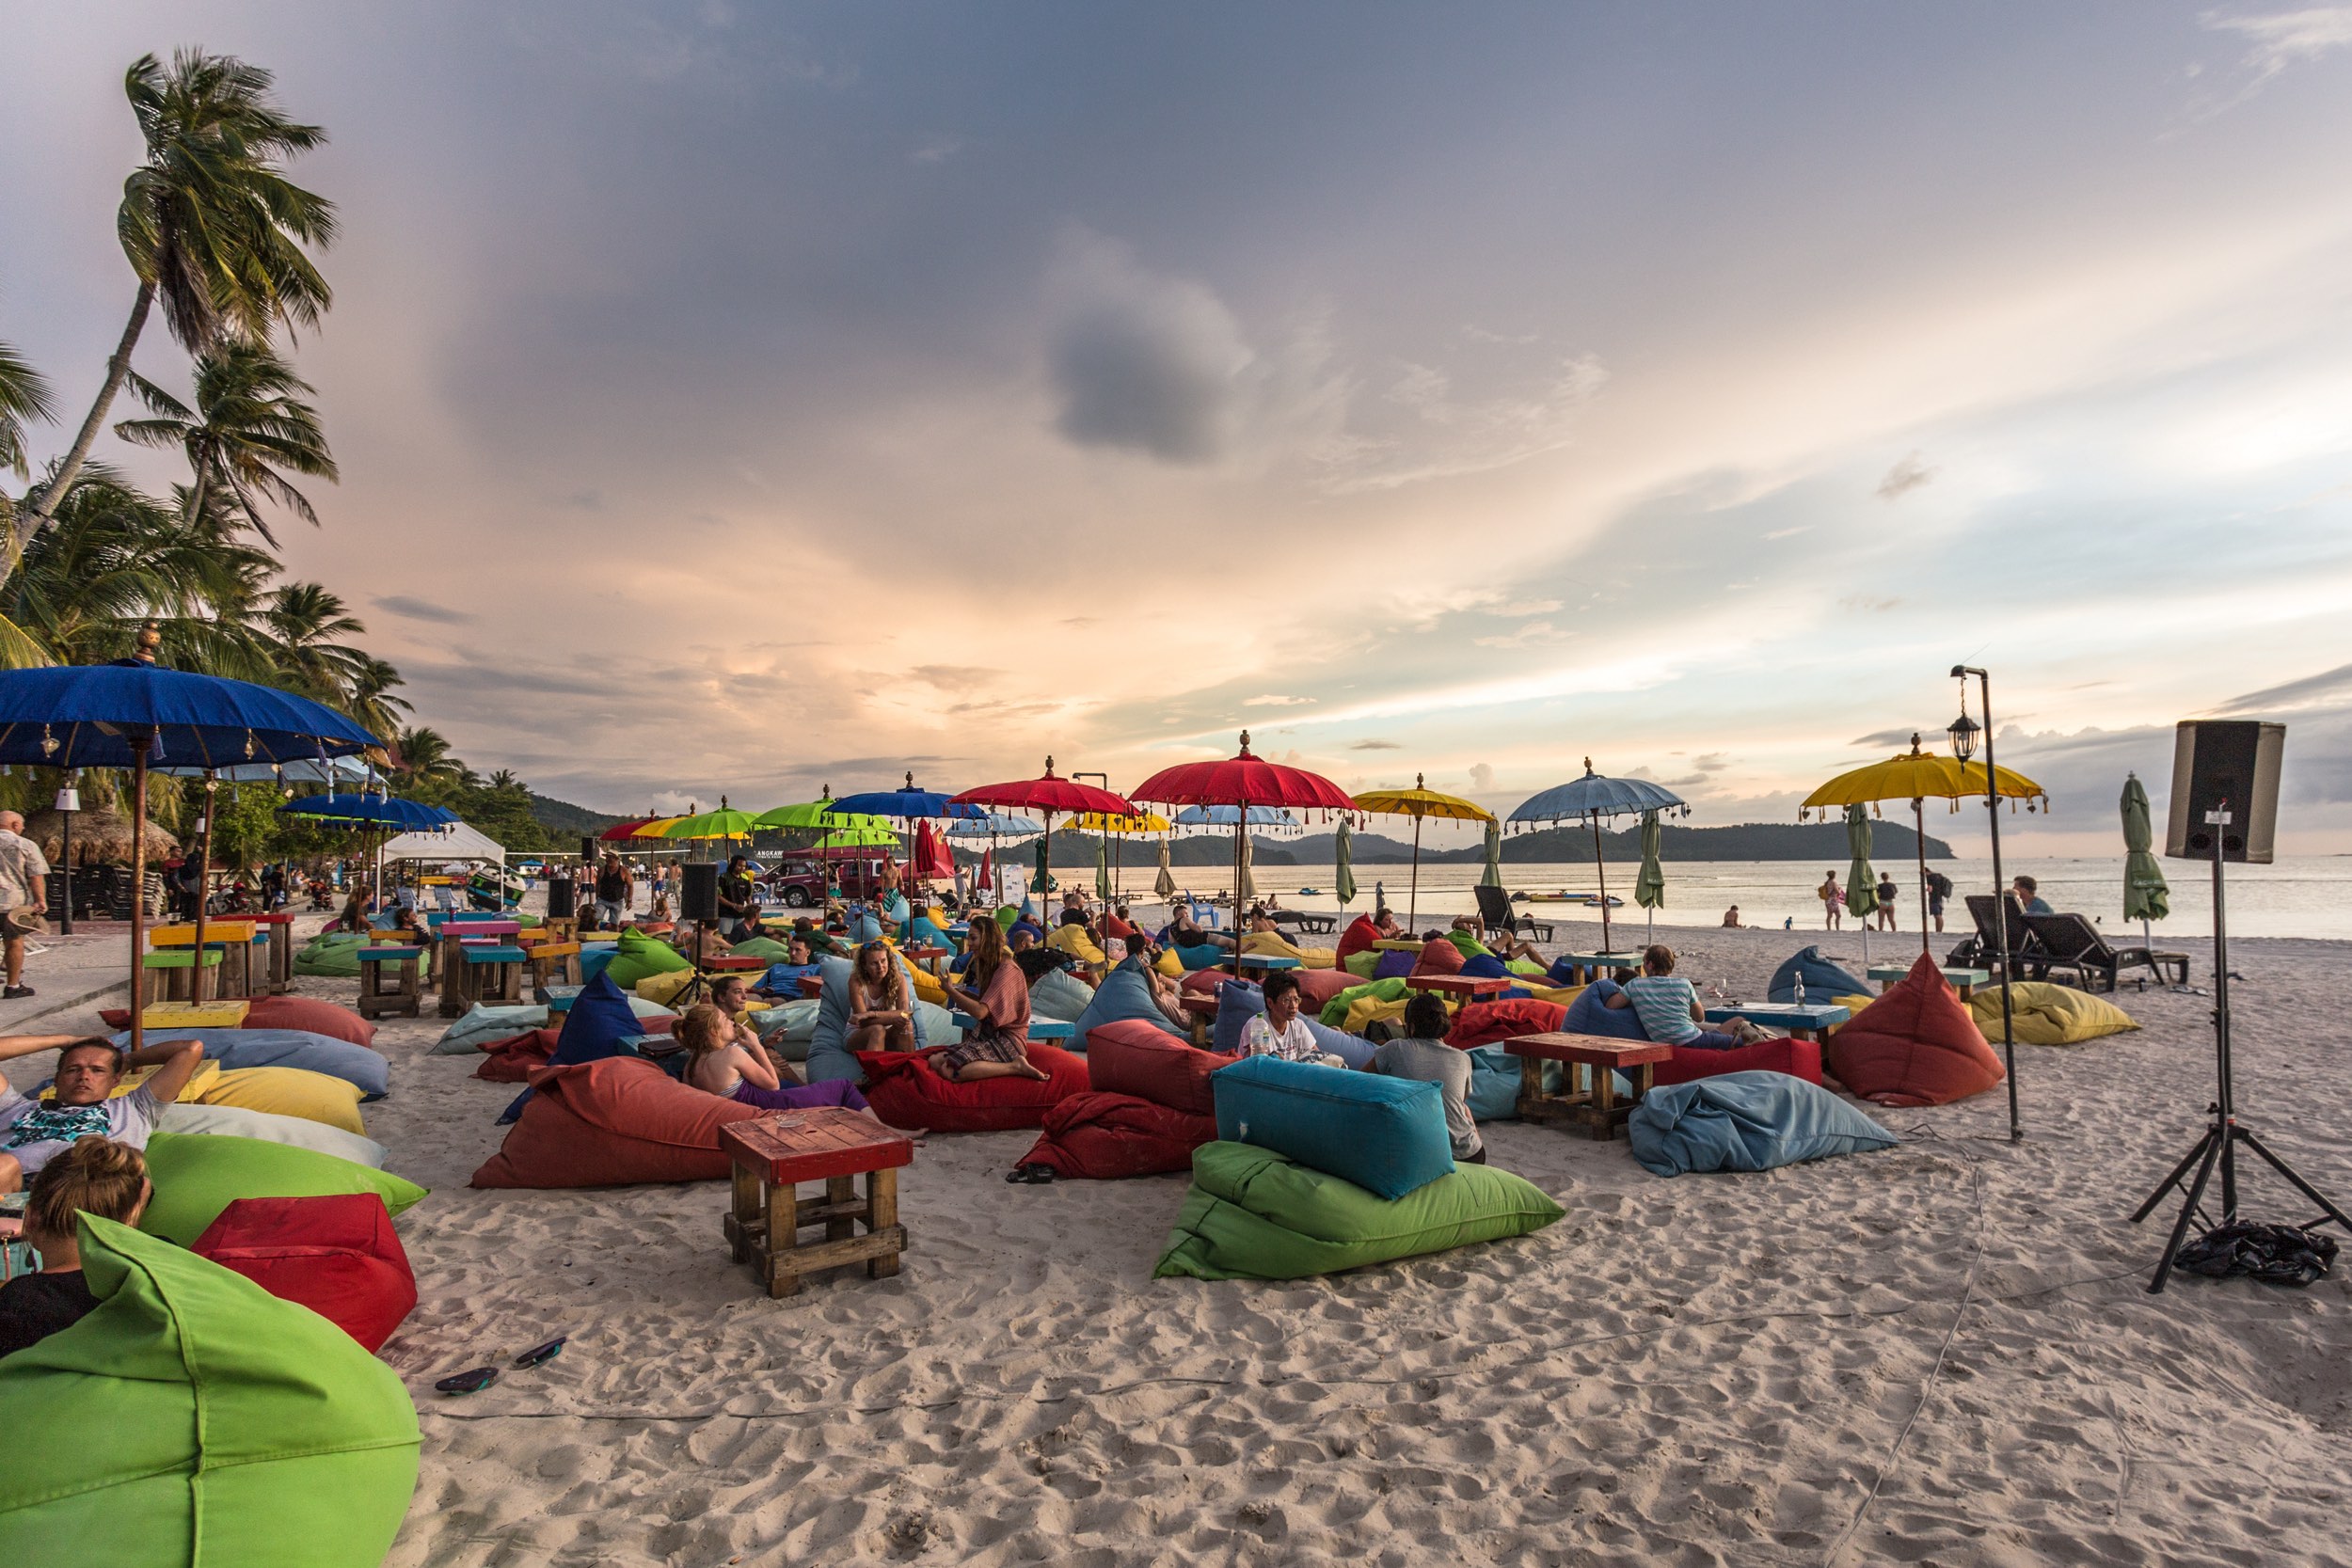
[[[734,1208],[727,1246],[748,1262],[769,1295],[793,1295],[804,1274],[866,1265],[868,1279],[898,1272],[906,1225],[898,1225],[898,1166],[915,1164],[915,1145],[873,1117],[833,1105],[776,1117],[729,1121],[720,1147],[734,1161]],[[866,1175],[866,1197],[856,1178]],[[800,1182],[826,1182],[804,1199]],[[823,1225],[823,1241],[800,1232]],[[866,1234],[858,1234],[866,1225]]]

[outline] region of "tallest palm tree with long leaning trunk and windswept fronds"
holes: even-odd
[[[334,242],[334,205],[289,181],[282,160],[327,141],[287,120],[273,75],[226,54],[181,49],[172,68],[141,54],[122,78],[146,160],[122,181],[115,233],[139,292],[106,362],[106,381],[73,447],[16,517],[16,543],[56,515],[106,425],[148,310],[188,353],[223,336],[266,341],[278,327],[315,327],[334,294],[303,247]]]

